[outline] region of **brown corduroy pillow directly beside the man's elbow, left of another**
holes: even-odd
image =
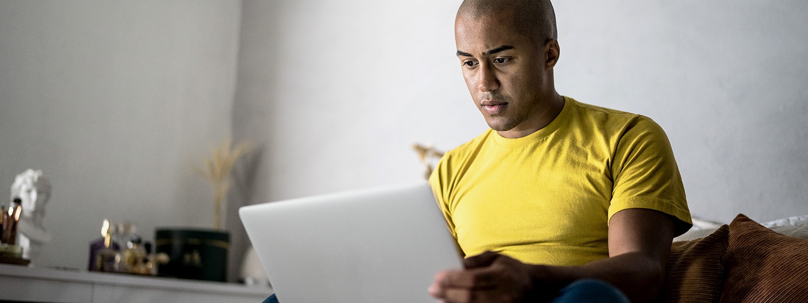
[[[692,241],[673,242],[659,302],[718,302],[724,276],[729,227]]]

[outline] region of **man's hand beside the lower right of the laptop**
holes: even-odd
[[[516,303],[536,290],[536,268],[506,255],[486,251],[464,259],[463,267],[439,272],[430,295],[451,303]]]

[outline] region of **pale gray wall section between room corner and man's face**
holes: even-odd
[[[234,133],[263,143],[250,203],[418,180],[410,145],[486,124],[453,58],[459,2],[245,1]]]

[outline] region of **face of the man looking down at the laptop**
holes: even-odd
[[[519,131],[541,116],[547,81],[544,49],[512,28],[510,12],[455,22],[465,84],[488,126],[499,132]]]

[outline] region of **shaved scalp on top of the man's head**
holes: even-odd
[[[558,39],[555,11],[549,0],[465,0],[457,10],[457,19],[478,19],[489,15],[508,13],[512,27],[542,47],[547,40]]]

